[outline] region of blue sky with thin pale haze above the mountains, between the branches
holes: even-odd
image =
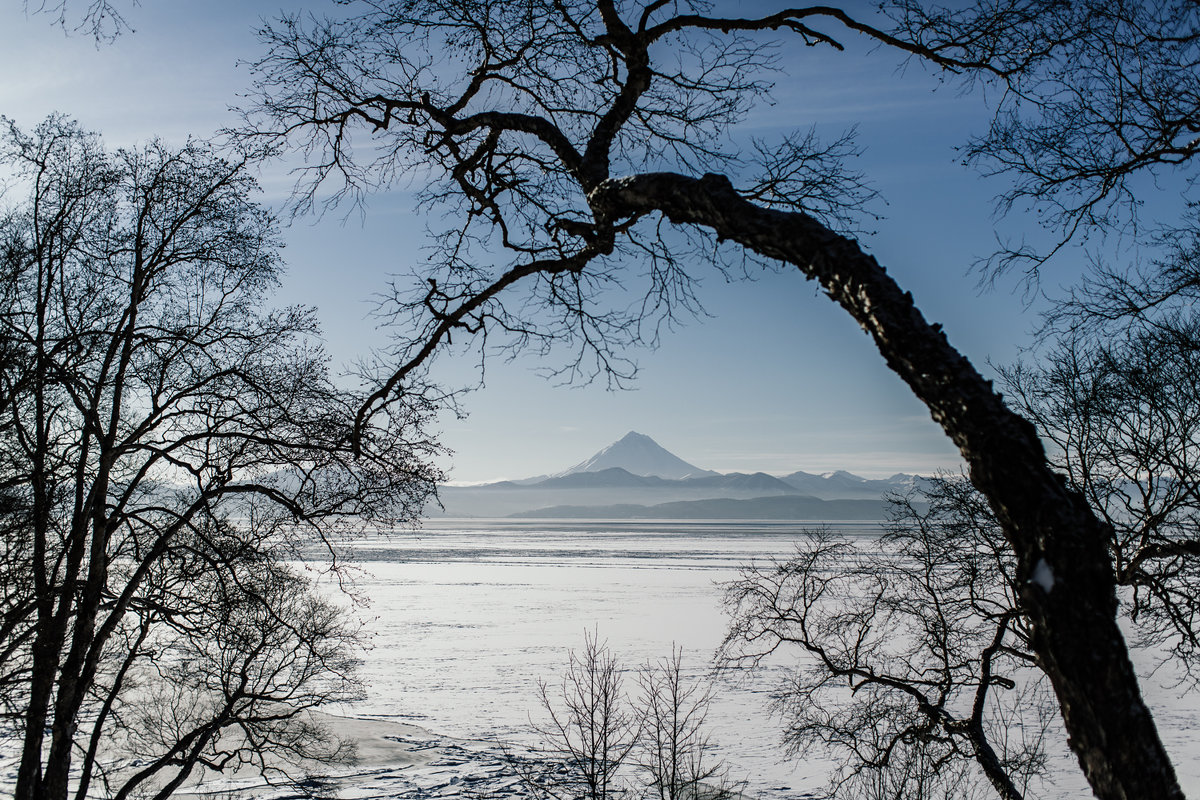
[[[110,146],[209,136],[234,122],[227,109],[250,80],[238,61],[259,53],[253,28],[281,7],[323,4],[144,0],[128,11],[136,32],[101,46],[10,8],[0,24],[0,114],[32,127],[62,112]],[[938,88],[920,67],[898,66],[889,54],[860,48],[788,48],[775,104],[755,112],[746,133],[857,125],[860,167],[886,201],[875,206],[883,219],[870,223],[875,233],[864,245],[977,365],[1010,361],[1030,343],[1036,317],[1015,281],[982,291],[971,265],[994,247],[997,225],[1014,234],[1031,223],[1012,216],[997,223],[991,198],[1003,179],[962,168],[954,150],[986,124],[985,103]],[[281,201],[288,185],[282,169],[269,172],[264,199]],[[286,231],[280,302],[319,308],[338,362],[383,344],[370,318],[372,296],[389,272],[418,263],[421,234],[404,192],[373,198],[361,218],[301,219]],[[1072,257],[1062,258],[1045,283],[1069,282],[1073,270]],[[532,356],[492,362],[486,387],[466,398],[469,416],[443,421],[443,440],[455,451],[451,477],[556,471],[630,429],[721,471],[881,476],[958,467],[953,447],[866,336],[794,271],[742,283],[707,275],[701,299],[709,318],[632,354],[641,372],[631,391],[558,386]],[[442,368],[462,383],[473,363]]]

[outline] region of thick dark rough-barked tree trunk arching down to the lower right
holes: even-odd
[[[1033,426],[928,323],[871,255],[812,217],[743,199],[722,175],[613,179],[589,196],[601,223],[664,213],[792,264],[874,338],[967,462],[1016,555],[1032,645],[1072,750],[1104,800],[1182,799],[1117,626],[1109,531],[1051,471]]]

